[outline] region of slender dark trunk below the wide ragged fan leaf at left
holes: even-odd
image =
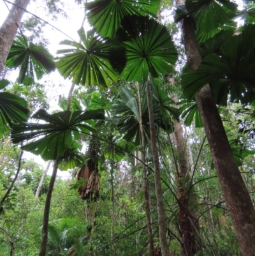
[[[41,235],[41,249],[39,256],[45,256],[47,250],[47,243],[48,243],[48,219],[50,216],[50,202],[52,199],[52,192],[54,188],[55,178],[57,176],[57,166],[59,165],[59,158],[54,161],[52,177],[50,178],[50,184],[48,186],[47,197],[45,200],[45,208],[43,214],[43,230]]]

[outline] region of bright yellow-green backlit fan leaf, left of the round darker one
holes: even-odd
[[[87,34],[82,27],[78,30],[82,43],[64,40],[62,45],[68,45],[71,49],[58,50],[59,57],[56,66],[66,79],[70,77],[73,83],[82,85],[109,85],[117,80],[116,70],[113,70],[110,60],[124,57],[124,49],[113,45],[110,40],[98,36],[94,30]],[[121,67],[119,67],[121,68]]]

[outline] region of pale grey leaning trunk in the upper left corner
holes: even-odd
[[[13,38],[30,0],[15,0],[10,13],[0,27],[0,73],[11,49]],[[20,6],[21,8],[18,8]],[[23,8],[23,9],[22,9]]]

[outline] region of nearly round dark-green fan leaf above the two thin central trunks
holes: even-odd
[[[128,16],[117,34],[126,36],[127,64],[124,80],[146,81],[149,74],[158,77],[172,70],[177,50],[166,27],[149,17]],[[126,34],[125,34],[126,33]]]

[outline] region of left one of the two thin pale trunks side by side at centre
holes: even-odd
[[[138,95],[138,107],[139,107],[139,126],[140,126],[140,134],[142,140],[142,162],[145,163],[145,135],[143,132],[143,114],[142,114],[142,103],[140,97],[140,89],[138,82],[136,83],[136,90]],[[144,207],[145,207],[145,216],[147,222],[147,236],[148,236],[148,250],[149,256],[154,256],[154,243],[153,243],[153,235],[152,235],[152,224],[150,222],[150,195],[149,195],[149,186],[147,180],[147,172],[146,166],[142,164],[143,169],[143,196],[144,196]]]

